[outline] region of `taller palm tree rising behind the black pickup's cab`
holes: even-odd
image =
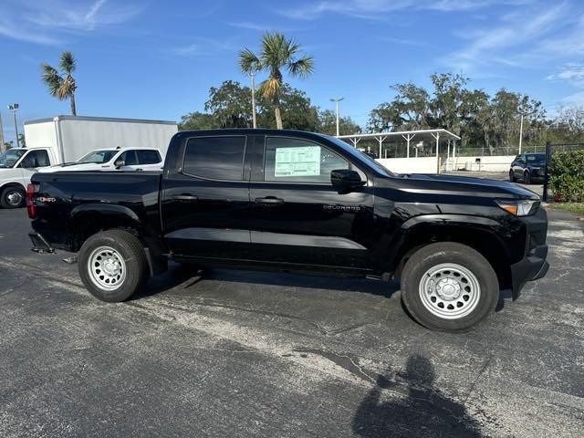
[[[282,69],[286,68],[292,76],[304,78],[312,72],[313,57],[297,57],[300,46],[279,32],[266,32],[262,36],[262,47],[258,55],[249,48],[239,52],[239,67],[244,73],[266,70],[268,78],[259,84],[259,92],[264,99],[271,101],[276,115],[276,127],[282,129],[280,112],[280,91],[283,86]]]

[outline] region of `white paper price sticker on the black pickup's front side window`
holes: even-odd
[[[274,176],[320,175],[320,146],[276,148]]]

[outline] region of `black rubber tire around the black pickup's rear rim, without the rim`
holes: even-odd
[[[113,250],[112,253],[115,257],[120,256],[123,260],[125,269],[120,269],[120,272],[123,272],[123,276],[116,285],[113,284],[114,278],[110,287],[100,286],[99,274],[93,274],[90,271],[89,258],[92,257],[94,252],[99,252],[99,248],[110,248]],[[118,303],[131,297],[132,294],[140,289],[149,273],[143,245],[135,235],[124,230],[102,231],[89,237],[79,250],[78,271],[89,293],[101,301],[110,303]],[[109,278],[105,270],[101,272],[106,276],[105,281],[107,281]]]

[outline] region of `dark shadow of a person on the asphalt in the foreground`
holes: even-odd
[[[433,386],[430,360],[410,356],[395,379],[379,376],[353,416],[353,433],[367,438],[391,436],[483,436],[463,404]]]

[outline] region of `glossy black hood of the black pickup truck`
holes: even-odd
[[[389,179],[385,179],[387,184]],[[469,176],[408,173],[399,177],[403,190],[412,193],[473,195],[515,199],[539,199],[539,195],[520,185],[506,181]],[[381,183],[381,185],[385,185]]]

